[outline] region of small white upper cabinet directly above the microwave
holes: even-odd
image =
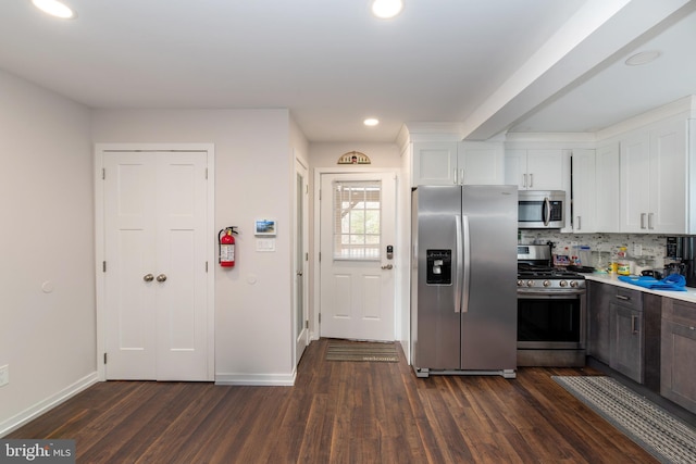
[[[506,150],[505,183],[520,190],[567,190],[568,166],[563,150]]]

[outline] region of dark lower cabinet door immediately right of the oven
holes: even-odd
[[[609,364],[610,304],[616,294],[612,285],[587,281],[587,354]]]

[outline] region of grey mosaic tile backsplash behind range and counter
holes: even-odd
[[[666,256],[667,236],[649,234],[561,234],[546,229],[521,229],[520,243],[546,243],[555,246],[554,254],[572,255],[575,247],[587,246],[592,251],[600,251],[609,256],[619,247],[626,247],[629,256],[651,258],[652,267],[662,268],[672,261]],[[597,253],[594,253],[595,255]],[[594,263],[583,263],[594,265]]]

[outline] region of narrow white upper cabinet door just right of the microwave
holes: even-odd
[[[572,230],[597,231],[595,226],[595,150],[573,150]]]

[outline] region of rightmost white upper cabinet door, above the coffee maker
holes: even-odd
[[[686,233],[686,123],[650,130],[648,231]]]

